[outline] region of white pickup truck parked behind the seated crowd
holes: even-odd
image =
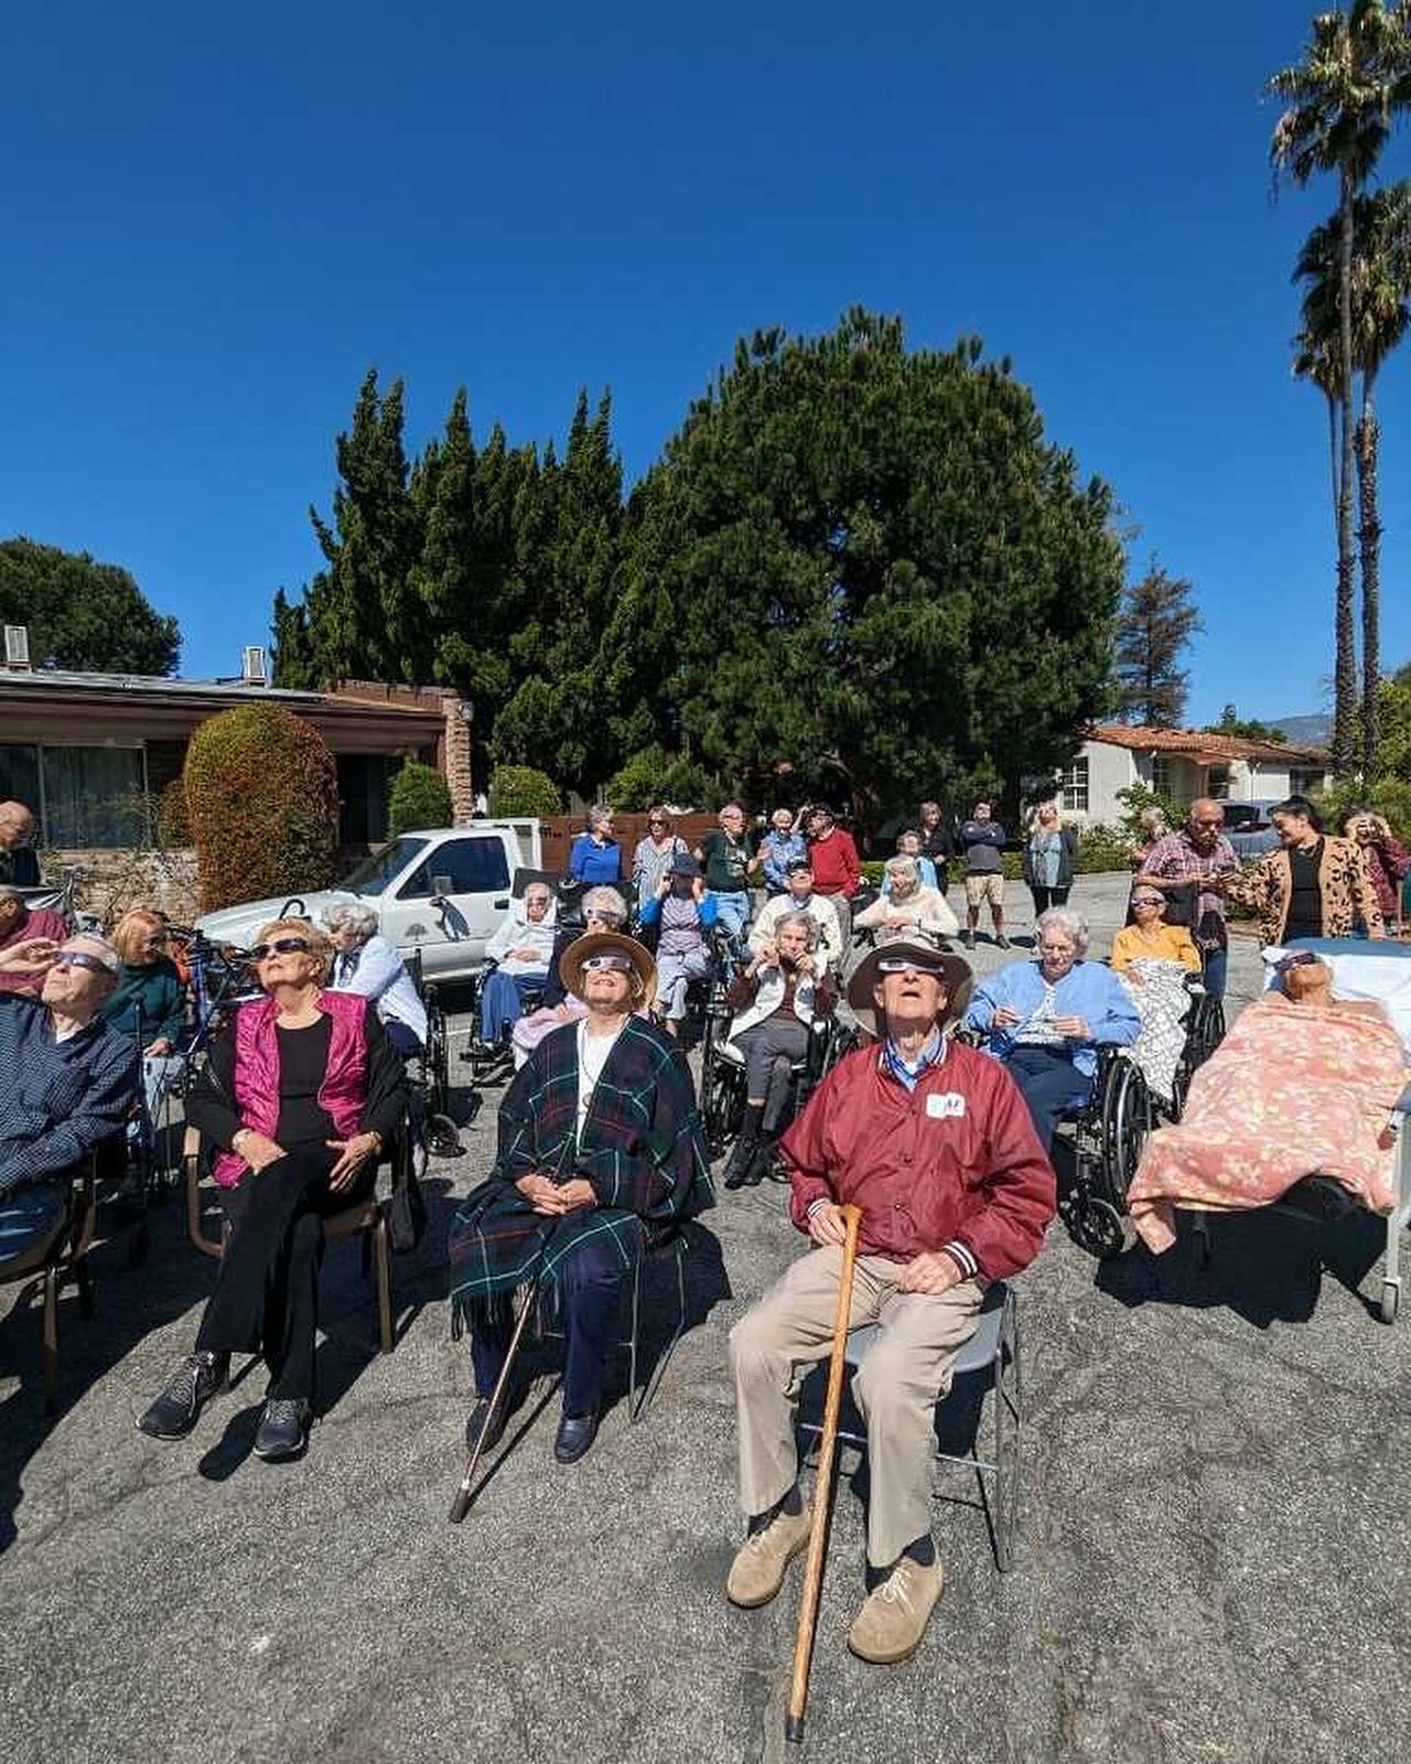
[[[464,827],[404,833],[365,857],[339,887],[252,900],[196,921],[213,944],[249,949],[270,919],[323,919],[339,901],[377,914],[377,930],[404,956],[422,951],[427,979],[467,979],[510,910],[517,870],[540,868],[538,820],[473,820]]]

